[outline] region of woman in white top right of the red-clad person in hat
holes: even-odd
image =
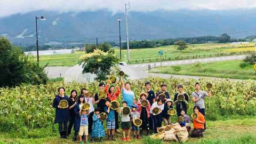
[[[155,107],[159,108],[159,111],[157,114],[153,114],[153,109]],[[162,99],[158,99],[157,102],[154,102],[153,105],[150,108],[150,117],[153,121],[153,129],[154,129],[154,133],[157,133],[157,127],[161,127],[162,126],[162,110],[164,109],[164,103]]]

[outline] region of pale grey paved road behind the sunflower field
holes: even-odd
[[[177,61],[164,61],[162,62],[162,66],[173,66],[173,65],[187,65],[191,63],[196,62],[214,62],[214,61],[226,61],[226,60],[239,60],[244,59],[246,55],[234,55],[234,56],[228,56],[228,57],[213,57],[213,58],[201,58],[201,59],[190,59],[190,60],[177,60]],[[139,78],[144,78],[148,76],[159,76],[159,77],[183,77],[183,78],[194,78],[199,79],[198,76],[184,76],[184,75],[170,75],[170,74],[155,74],[155,73],[148,73],[148,65],[151,66],[151,68],[160,67],[160,62],[151,62],[151,63],[141,63],[141,64],[133,64],[128,65],[130,68],[132,68],[134,71],[137,72]],[[55,78],[60,77],[60,75],[63,77],[66,74],[66,71],[70,67],[46,67],[46,73],[49,78]],[[146,71],[145,71],[146,70]]]

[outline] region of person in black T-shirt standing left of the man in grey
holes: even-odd
[[[179,92],[174,94],[174,104],[176,104],[176,111],[177,111],[177,116],[179,117],[181,114],[181,109],[185,110],[185,114],[187,114],[187,110],[188,110],[188,102],[189,102],[189,98],[188,98],[188,94],[183,92],[183,86],[182,85],[178,85],[178,90]],[[178,95],[183,94],[185,99],[183,100],[178,100]]]

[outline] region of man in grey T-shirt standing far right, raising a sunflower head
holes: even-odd
[[[211,91],[209,90],[207,93],[205,91],[201,91],[201,86],[199,83],[195,84],[195,92],[192,93],[192,100],[195,103],[195,106],[198,106],[199,112],[204,115],[205,118],[205,105],[204,98],[211,96]],[[206,123],[204,123],[204,130],[206,130]]]

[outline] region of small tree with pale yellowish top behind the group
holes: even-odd
[[[110,75],[111,68],[115,67],[119,59],[111,52],[103,52],[99,49],[93,53],[87,53],[81,58],[80,65],[83,67],[83,73],[97,75],[95,80],[105,81]]]

